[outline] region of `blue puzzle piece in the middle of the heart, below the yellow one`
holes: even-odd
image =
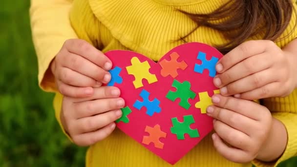
[[[160,113],[161,108],[159,106],[160,101],[157,98],[155,98],[152,102],[148,100],[149,94],[150,93],[148,93],[148,91],[143,89],[140,93],[140,96],[142,97],[143,102],[136,100],[136,102],[133,104],[133,107],[140,110],[143,106],[145,106],[147,108],[147,114],[149,116],[152,116],[155,112]]]

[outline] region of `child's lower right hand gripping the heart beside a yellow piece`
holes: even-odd
[[[207,114],[214,118],[216,133],[212,134],[212,139],[216,150],[236,163],[247,163],[263,156],[259,152],[268,143],[272,129],[270,111],[253,101],[234,97],[214,95],[212,102],[214,105],[207,108]],[[276,158],[281,153],[276,153]]]

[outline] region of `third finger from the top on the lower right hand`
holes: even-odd
[[[242,150],[247,150],[250,147],[250,137],[242,131],[218,120],[213,121],[213,129],[221,139],[233,147]]]

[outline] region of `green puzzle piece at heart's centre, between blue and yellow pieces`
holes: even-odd
[[[169,91],[166,95],[166,98],[174,102],[177,98],[180,98],[179,105],[184,107],[185,109],[189,109],[191,104],[188,100],[194,99],[196,94],[191,91],[191,84],[188,81],[184,81],[182,84],[177,80],[174,80],[172,83],[172,87],[176,88],[176,91]]]

